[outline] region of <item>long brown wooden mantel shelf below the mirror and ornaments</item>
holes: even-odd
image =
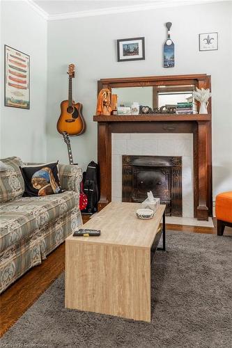
[[[177,115],[170,113],[157,113],[155,115],[95,115],[95,122],[154,122],[154,121],[210,121],[210,113],[195,115]]]

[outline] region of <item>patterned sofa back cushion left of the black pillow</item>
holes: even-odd
[[[24,193],[24,180],[20,171],[22,161],[19,157],[1,159],[8,166],[6,171],[0,172],[0,202],[7,202]]]

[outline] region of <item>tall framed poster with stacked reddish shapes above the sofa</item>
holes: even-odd
[[[5,45],[5,106],[30,109],[30,56]]]

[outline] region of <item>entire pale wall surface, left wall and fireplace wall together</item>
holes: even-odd
[[[74,97],[84,104],[87,122],[86,133],[71,139],[74,159],[83,168],[97,159],[93,114],[98,79],[207,73],[212,76],[213,95],[213,193],[231,189],[231,2],[51,21],[48,33],[45,19],[26,2],[1,1],[1,6],[1,77],[4,44],[31,56],[30,110],[3,106],[1,84],[1,157],[18,155],[25,161],[45,161],[47,157],[68,162],[62,136],[56,131],[59,104],[67,99],[68,63],[77,65]],[[164,69],[164,23],[169,21],[173,23],[176,66]],[[219,33],[219,50],[199,52],[198,34],[210,31]],[[146,60],[118,63],[116,39],[138,36],[145,36]]]

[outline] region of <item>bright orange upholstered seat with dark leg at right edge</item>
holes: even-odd
[[[217,235],[222,236],[225,226],[232,227],[232,191],[216,196]]]

